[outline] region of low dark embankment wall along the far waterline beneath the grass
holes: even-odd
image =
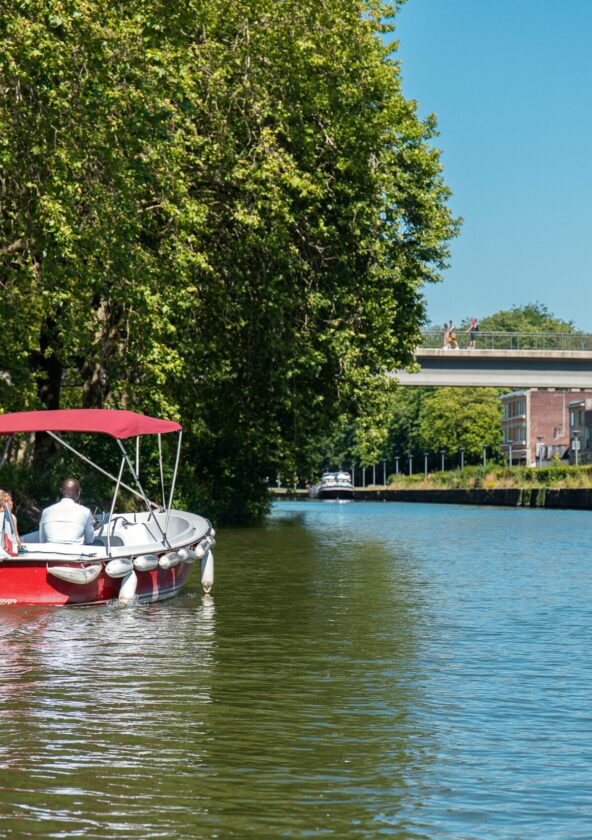
[[[274,492],[277,499],[307,498],[306,491]],[[491,490],[389,490],[357,488],[357,501],[424,502],[448,505],[494,505],[504,507],[592,509],[592,489],[550,489],[524,487],[522,489]]]

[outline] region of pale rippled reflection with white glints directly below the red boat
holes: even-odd
[[[4,612],[0,832],[174,825],[175,786],[203,763],[204,719],[191,712],[211,703],[215,645],[211,596]]]

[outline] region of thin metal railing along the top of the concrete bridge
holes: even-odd
[[[455,332],[461,349],[467,349],[471,340],[470,333],[464,330]],[[424,330],[419,348],[439,348],[444,346],[444,330]],[[478,350],[589,350],[592,351],[590,333],[510,333],[477,332]]]

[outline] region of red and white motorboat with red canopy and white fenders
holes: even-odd
[[[191,566],[199,564],[206,593],[214,582],[215,531],[202,516],[172,508],[179,467],[182,429],[170,420],[158,420],[132,411],[64,409],[25,411],[0,415],[0,435],[47,432],[115,483],[111,509],[95,517],[92,545],[40,543],[39,532],[22,536],[25,549],[18,554],[0,548],[0,605],[147,603],[171,598],[182,588]],[[117,476],[94,464],[60,437],[63,432],[110,435],[120,454]],[[177,454],[168,500],[164,485],[161,436],[178,434]],[[158,442],[162,500],[150,501],[139,479],[140,437]],[[135,439],[132,460],[124,441]],[[135,487],[122,481],[124,470]],[[145,510],[116,512],[121,488],[138,497]],[[1,518],[1,515],[0,515]],[[4,515],[2,531],[6,530]],[[4,533],[2,546],[5,546]]]

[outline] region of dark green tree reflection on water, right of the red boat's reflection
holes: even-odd
[[[221,535],[228,634],[210,755],[220,765],[236,750],[237,760],[220,807],[259,836],[375,836],[380,807],[400,810],[426,760],[414,718],[422,587],[413,559],[351,508],[305,506]]]

